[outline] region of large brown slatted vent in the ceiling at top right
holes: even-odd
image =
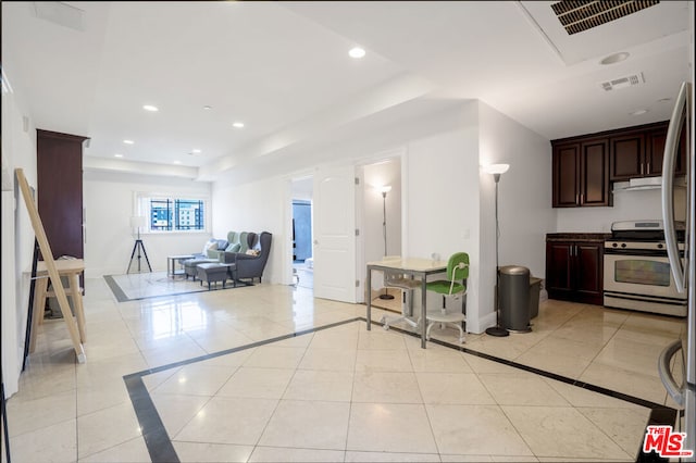
[[[551,4],[558,21],[568,35],[582,33],[601,26],[611,21],[633,14],[648,7],[658,4],[659,0],[562,0]]]

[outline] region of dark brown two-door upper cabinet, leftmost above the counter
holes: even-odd
[[[606,139],[554,146],[554,208],[611,205]]]

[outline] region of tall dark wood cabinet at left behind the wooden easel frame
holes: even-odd
[[[83,143],[87,137],[36,133],[37,204],[53,259],[84,259]]]

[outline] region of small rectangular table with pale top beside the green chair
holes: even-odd
[[[394,258],[368,262],[368,288],[372,291],[372,271],[400,273],[421,280],[421,348],[425,349],[426,303],[425,291],[427,276],[447,272],[447,261],[433,261],[420,258]],[[368,330],[372,329],[372,297],[368,297]]]

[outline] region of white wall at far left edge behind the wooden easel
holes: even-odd
[[[2,191],[2,375],[8,397],[18,387],[34,255],[34,229],[14,170],[22,168],[36,187],[36,128],[16,85],[14,90],[2,93],[2,168],[11,183],[11,190]]]

